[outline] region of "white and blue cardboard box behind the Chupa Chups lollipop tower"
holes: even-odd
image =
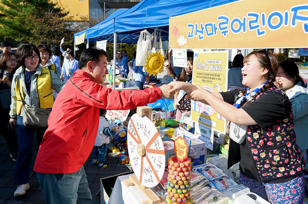
[[[186,144],[188,145],[188,147],[190,141],[191,141],[191,148],[194,148],[196,152],[194,166],[204,164],[204,160],[206,157],[205,143],[198,138],[186,139]],[[168,141],[163,141],[163,144],[165,149],[166,165],[167,165],[169,157],[175,155],[174,151],[175,143],[172,140],[168,140]]]

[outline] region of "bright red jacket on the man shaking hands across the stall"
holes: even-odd
[[[48,118],[34,171],[74,173],[90,155],[99,127],[99,109],[128,110],[161,98],[160,88],[115,91],[94,83],[76,70],[57,95]]]

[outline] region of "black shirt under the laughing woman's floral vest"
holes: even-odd
[[[240,91],[241,90],[237,89],[227,92],[221,92],[221,95],[226,103],[233,105],[235,103],[235,98],[239,95]],[[246,105],[242,109],[249,116],[251,116],[262,129],[264,129],[277,120],[287,118],[290,115],[291,104],[290,101],[282,94],[270,92],[260,96],[257,100],[254,100],[252,103]],[[235,146],[236,149],[239,150],[235,154],[233,154],[232,157],[240,157],[238,158],[240,159],[240,172],[243,175],[258,181],[259,176],[255,168],[253,158],[250,154],[250,148],[246,143],[246,139],[244,139],[244,141],[240,145],[230,139],[230,146],[231,143],[232,146]],[[236,162],[237,161],[233,163],[235,164]],[[292,179],[293,178],[283,178],[279,181],[274,180],[269,181],[268,183],[280,183]]]

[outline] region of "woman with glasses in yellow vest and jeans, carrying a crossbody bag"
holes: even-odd
[[[14,196],[18,196],[24,195],[30,188],[28,178],[34,134],[36,133],[38,148],[47,129],[47,127],[37,128],[23,124],[23,104],[36,108],[52,108],[52,89],[59,93],[64,83],[54,72],[40,66],[40,52],[34,45],[21,44],[15,56],[16,62],[21,67],[16,70],[12,80],[10,125],[17,127],[18,135],[18,153],[14,172],[14,184],[17,185]]]

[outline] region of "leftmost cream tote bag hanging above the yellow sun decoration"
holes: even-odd
[[[151,52],[151,34],[147,31],[141,31],[136,49],[136,66],[143,66],[146,63],[146,57]]]

